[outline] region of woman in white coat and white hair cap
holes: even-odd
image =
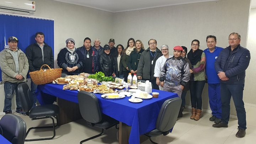
[[[156,78],[156,84],[159,86],[159,90],[164,90],[164,88],[160,86],[160,80],[159,80],[160,73],[161,73],[161,70],[164,66],[166,59],[173,57],[173,55],[169,55],[169,47],[167,44],[163,44],[160,47],[160,49],[161,49],[163,55],[156,60],[154,77]]]

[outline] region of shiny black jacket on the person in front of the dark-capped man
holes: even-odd
[[[105,74],[105,76],[112,76],[116,73],[116,65],[112,54],[107,55],[103,52],[98,58],[99,71]]]

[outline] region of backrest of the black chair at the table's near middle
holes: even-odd
[[[102,120],[102,112],[98,98],[86,91],[78,92],[78,105],[82,118],[90,123],[98,123]]]

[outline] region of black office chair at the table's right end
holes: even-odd
[[[180,105],[181,105],[181,98],[175,97],[171,98],[169,100],[166,100],[160,109],[160,112],[158,114],[158,118],[156,119],[156,129],[151,130],[148,133],[145,133],[147,137],[149,137],[149,140],[153,144],[155,143],[151,140],[151,137],[157,137],[159,135],[167,135],[170,133],[170,129],[174,127],[178,112],[180,111]]]

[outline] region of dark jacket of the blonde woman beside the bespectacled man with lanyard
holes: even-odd
[[[140,49],[140,51],[137,53],[136,48],[134,48],[133,51],[130,53],[130,56],[128,58],[128,63],[127,63],[129,71],[137,70],[140,55],[142,54],[143,51],[144,49]]]

